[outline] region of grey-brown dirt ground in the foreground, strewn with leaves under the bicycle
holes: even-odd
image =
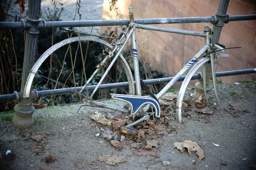
[[[195,104],[193,91],[186,91],[182,124],[175,121],[175,97],[163,99],[161,119],[143,122],[137,127],[138,135],[119,132],[118,126],[128,123],[129,115],[91,107],[76,113],[81,104],[38,109],[33,114],[34,125],[27,130],[0,120],[0,169],[256,169],[256,83],[218,84],[220,108],[215,105],[213,90],[208,109],[200,102]],[[123,105],[114,100],[103,102]],[[90,118],[96,113],[103,113],[110,125]],[[6,114],[14,113],[0,116]],[[196,142],[205,158],[199,160],[195,151],[189,156],[187,150],[181,153],[174,147],[175,142],[186,140]],[[13,154],[6,156],[7,150]]]

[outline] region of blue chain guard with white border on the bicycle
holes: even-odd
[[[125,94],[111,94],[112,99],[121,100],[131,105],[131,115],[136,114],[143,105],[150,104],[155,109],[156,117],[160,118],[160,105],[156,99],[148,96],[135,96]]]

